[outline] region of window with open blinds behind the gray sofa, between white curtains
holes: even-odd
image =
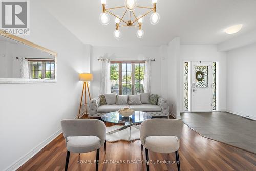
[[[111,62],[111,93],[120,95],[144,92],[144,62]]]

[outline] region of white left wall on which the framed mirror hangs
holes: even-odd
[[[57,83],[0,84],[0,170],[16,169],[60,133],[60,120],[77,116],[78,72],[90,72],[86,46],[39,1],[30,1],[30,17],[24,38],[58,53]]]

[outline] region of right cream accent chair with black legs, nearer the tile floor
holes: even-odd
[[[147,119],[141,123],[141,151],[144,146],[146,152],[147,171],[150,169],[148,165],[148,149],[156,153],[167,154],[175,152],[177,167],[180,171],[178,149],[182,127],[183,121],[177,119]]]

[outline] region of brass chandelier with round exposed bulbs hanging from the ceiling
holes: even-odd
[[[125,0],[124,6],[114,7],[114,8],[106,8],[106,0],[101,0],[103,12],[99,16],[100,23],[102,25],[108,25],[110,23],[110,17],[108,15],[108,13],[109,13],[110,15],[113,15],[115,17],[114,20],[116,23],[116,30],[113,33],[115,38],[117,38],[117,39],[120,38],[121,32],[119,31],[119,27],[124,27],[124,26],[138,27],[139,30],[137,31],[136,35],[138,38],[142,38],[144,35],[144,31],[142,30],[143,17],[150,14],[151,12],[153,12],[150,16],[150,23],[153,25],[156,25],[160,20],[160,15],[157,13],[157,10],[156,10],[157,0],[152,0],[153,8],[137,6],[137,3],[138,3],[138,0]],[[110,12],[110,10],[114,10],[117,8],[125,8],[125,12],[122,15],[122,17]],[[144,15],[136,16],[135,12],[134,12],[136,8],[144,8],[144,9],[148,9],[149,11],[146,12]],[[127,20],[127,21],[124,20],[124,16],[126,14],[129,15],[129,20]],[[134,18],[134,19],[132,19],[132,18]],[[120,25],[121,23],[123,23],[123,25]]]

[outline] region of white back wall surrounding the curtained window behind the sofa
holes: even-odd
[[[161,76],[160,76],[160,55],[158,47],[92,47],[92,73],[93,81],[91,82],[92,97],[98,97],[100,91],[100,61],[97,59],[156,59],[152,62],[151,75],[151,92],[152,94],[161,93]]]

